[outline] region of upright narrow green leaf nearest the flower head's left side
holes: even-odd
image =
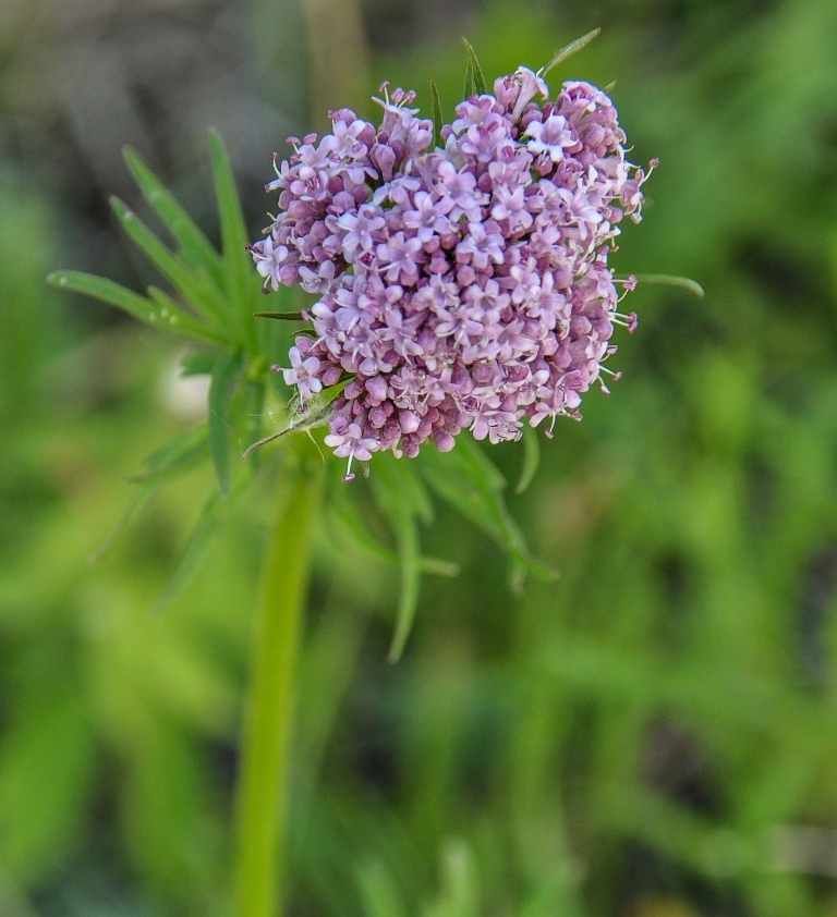
[[[213,160],[213,179],[218,199],[218,217],[221,223],[225,277],[227,293],[239,311],[239,320],[251,350],[255,349],[251,291],[254,286],[253,262],[247,254],[247,233],[241,210],[235,181],[221,135],[209,131],[209,152]]]

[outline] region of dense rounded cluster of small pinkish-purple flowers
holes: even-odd
[[[319,143],[290,139],[267,186],[279,216],[251,247],[266,291],[319,294],[284,379],[303,404],[349,379],[326,443],[350,472],[428,438],[447,451],[465,428],[492,442],[524,421],[551,431],[604,388],[614,325],[635,327],[617,311],[617,284],[635,280],[607,258],[622,217],[640,220],[646,175],[604,93],[565,83],[548,101],[521,68],[458,106],[441,148],[413,93],[381,91],[380,126],[343,109]]]

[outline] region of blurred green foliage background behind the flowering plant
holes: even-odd
[[[177,345],[62,296],[150,279],[108,217],[134,144],[215,232],[206,130],[252,237],[284,136],[388,78],[451,110],[492,76],[612,90],[658,157],[621,273],[624,379],[559,424],[511,513],[555,583],[438,509],[402,661],[397,571],[317,533],[291,787],[295,917],[837,915],[834,0],[3,0],[0,917],[229,913],[230,805],[269,494],[149,609],[210,474],[96,563],[124,477],[201,416]],[[268,447],[269,448],[269,447]],[[492,457],[513,481],[522,452]],[[356,481],[359,497],[366,485]]]

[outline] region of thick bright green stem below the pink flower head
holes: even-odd
[[[280,502],[262,580],[254,671],[236,797],[235,914],[276,917],[284,846],[296,657],[319,503],[322,460],[294,437],[299,463]]]

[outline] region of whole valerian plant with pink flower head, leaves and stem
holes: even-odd
[[[418,524],[433,516],[428,489],[506,549],[513,583],[551,575],[529,553],[502,499],[505,480],[475,440],[522,437],[518,489],[525,487],[537,465],[536,428],[545,423],[551,436],[557,417],[580,418],[591,386],[607,391],[603,374],[619,375],[605,366],[614,326],[636,326],[635,315],[619,310],[636,279],[616,278],[608,256],[623,217],[640,220],[648,173],[628,161],[604,91],[568,82],[550,100],[544,78],[595,34],[538,72],[521,66],[499,77],[490,91],[465,42],[465,100],[450,124],[433,84],[432,119],[411,108],[414,93],[386,84],[379,125],[332,112],[331,133],[291,138],[289,161],[274,156],[277,176],[267,187],[279,192],[279,210],[254,244],[217,133],[209,149],[220,252],[129,149],[128,167],[174,249],[116,198],[113,212],[172,292],[149,286],[143,296],[73,271],[50,277],[187,339],[194,347],[183,372],[210,377],[207,421],[154,452],[132,478],[125,518],[204,463],[217,478],[160,604],[193,574],[223,501],[259,473],[257,447],[277,441],[279,503],[238,787],[240,917],[271,917],[281,897],[295,659],[320,509],[362,548],[400,566],[392,661],[410,632],[421,573],[456,572],[421,552]],[[263,311],[270,289],[276,309]],[[280,418],[270,432],[268,405]],[[344,468],[324,457],[318,440]],[[231,457],[235,444],[244,462]],[[369,484],[395,548],[372,534],[352,501],[353,463],[368,472],[373,456]]]

